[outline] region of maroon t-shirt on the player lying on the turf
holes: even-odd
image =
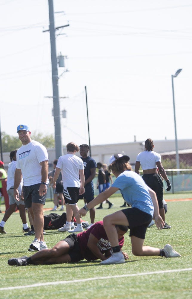
[[[78,243],[81,248],[81,253],[83,254],[85,260],[97,260],[96,257],[90,249],[87,247],[87,242],[89,239],[90,234],[93,234],[96,239],[98,239],[97,246],[99,247],[100,251],[104,254],[106,250],[111,248],[111,244],[107,238],[107,234],[103,227],[103,221],[98,221],[93,224],[87,231],[82,231],[77,235]],[[124,244],[124,237],[119,239],[119,246],[120,248],[123,247]]]

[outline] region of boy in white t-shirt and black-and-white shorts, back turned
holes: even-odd
[[[80,217],[76,217],[76,228],[74,228],[72,222],[73,215],[76,215],[79,211],[77,205],[79,195],[82,195],[85,192],[84,165],[82,159],[75,155],[76,152],[79,152],[78,145],[73,142],[68,143],[67,154],[58,159],[52,184],[53,188],[56,188],[56,180],[61,171],[67,221],[62,228],[58,229],[58,231],[68,231],[70,233],[83,231]]]

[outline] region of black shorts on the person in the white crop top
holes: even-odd
[[[153,191],[155,191],[159,209],[163,208],[163,182],[157,173],[144,174],[142,179]]]

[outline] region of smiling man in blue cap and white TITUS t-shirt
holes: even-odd
[[[35,239],[29,251],[47,249],[43,237],[43,206],[47,197],[48,153],[47,149],[37,141],[31,140],[31,132],[26,125],[17,127],[22,146],[17,151],[14,196],[19,200],[18,187],[23,176],[23,197],[35,229]]]

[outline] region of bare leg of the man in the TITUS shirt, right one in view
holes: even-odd
[[[44,213],[43,213],[43,205],[32,202],[32,210],[33,210],[33,226],[35,229],[35,238],[39,241],[44,241],[43,236],[43,225],[44,225]]]

